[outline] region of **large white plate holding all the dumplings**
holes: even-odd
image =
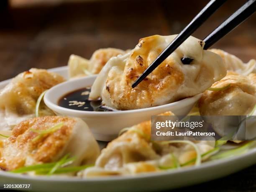
[[[51,69],[67,77],[67,67]],[[0,82],[0,89],[9,80]],[[199,167],[185,167],[161,173],[141,174],[129,177],[102,177],[78,179],[66,177],[29,177],[0,172],[0,184],[31,184],[34,192],[140,192],[160,191],[224,177],[256,164],[256,148],[233,158],[211,161]]]

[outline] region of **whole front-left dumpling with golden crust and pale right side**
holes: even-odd
[[[40,133],[36,133],[59,124],[58,129],[41,137]],[[23,166],[55,162],[67,154],[76,157],[72,163],[74,166],[92,164],[100,154],[100,149],[83,120],[44,116],[16,125],[12,135],[4,140],[0,154],[0,168],[10,171]]]

